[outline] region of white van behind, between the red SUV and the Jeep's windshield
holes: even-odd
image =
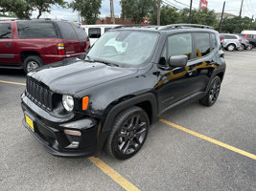
[[[120,25],[81,25],[88,34],[91,46],[108,30]]]

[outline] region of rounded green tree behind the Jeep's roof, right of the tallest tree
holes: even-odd
[[[170,6],[163,6],[161,7],[161,14],[160,14],[160,25],[170,25],[179,23],[179,17],[180,13]],[[153,11],[153,13],[150,16],[151,25],[157,24],[157,18],[156,18],[156,11]]]

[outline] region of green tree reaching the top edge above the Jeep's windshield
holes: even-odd
[[[122,19],[127,18],[140,24],[152,11],[156,11],[157,0],[121,0],[120,5]]]

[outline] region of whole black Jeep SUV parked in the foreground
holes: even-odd
[[[53,155],[93,156],[105,147],[128,159],[165,111],[216,102],[225,72],[219,38],[201,25],[110,30],[84,59],[28,74],[23,124]]]

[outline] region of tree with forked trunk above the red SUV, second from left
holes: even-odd
[[[42,12],[51,12],[52,5],[59,5],[63,8],[66,5],[63,0],[27,0],[27,2],[34,11],[38,11],[37,18],[42,15]]]

